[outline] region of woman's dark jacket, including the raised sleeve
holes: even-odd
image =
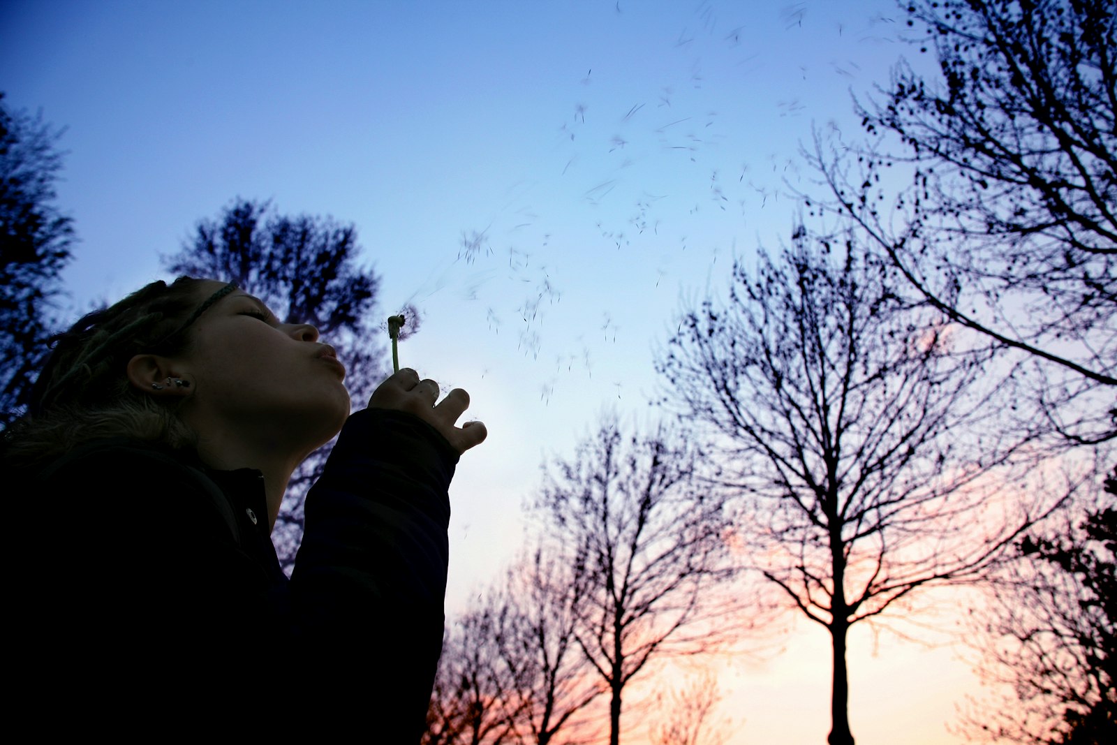
[[[457,459],[410,414],[350,417],[306,498],[289,581],[258,471],[112,440],[17,478],[6,708],[47,730],[170,736],[225,722],[418,742]]]

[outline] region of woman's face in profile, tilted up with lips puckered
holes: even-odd
[[[199,304],[223,286],[201,283]],[[317,329],[280,323],[244,290],[202,314],[178,359],[193,381],[189,417],[202,437],[216,426],[269,438],[270,447],[303,442],[309,452],[336,434],[349,416],[345,367],[332,347],[318,342]]]

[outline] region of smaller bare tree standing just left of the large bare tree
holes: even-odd
[[[732,574],[724,504],[696,480],[687,441],[660,428],[629,434],[615,420],[546,471],[534,504],[572,567],[577,646],[610,694],[610,743],[626,686],[653,660],[707,651],[718,582]]]

